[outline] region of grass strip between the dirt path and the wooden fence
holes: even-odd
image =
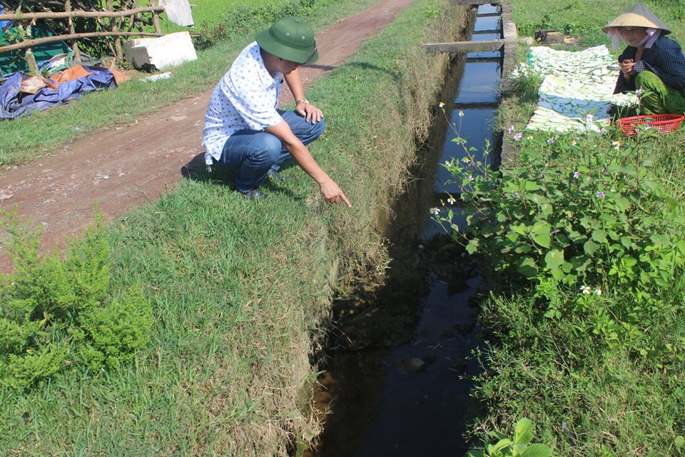
[[[312,6],[293,8],[292,14],[301,14],[317,31],[366,9],[375,4],[375,1],[290,1],[290,4],[305,3],[311,3]],[[260,6],[259,3],[255,4],[255,8]],[[248,6],[243,5],[241,8],[241,14],[245,14]],[[228,17],[240,21],[235,16]],[[196,61],[169,69],[174,75],[171,79],[155,84],[132,80],[113,91],[91,92],[65,106],[13,121],[2,121],[0,166],[21,164],[54,154],[59,145],[66,141],[72,141],[94,131],[111,129],[117,124],[128,124],[131,119],[138,116],[158,111],[178,100],[211,89],[223,76],[238,52],[254,40],[255,31],[269,21],[269,18],[251,17],[250,21],[245,23],[250,29],[240,29],[240,33],[237,34],[228,33],[228,39],[217,42],[209,49],[198,51]]]

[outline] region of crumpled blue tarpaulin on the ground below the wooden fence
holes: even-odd
[[[116,87],[114,75],[108,69],[99,66],[83,66],[83,68],[91,74],[73,81],[66,81],[57,86],[57,90],[44,87],[36,94],[21,93],[21,81],[24,76],[19,73],[12,74],[0,86],[0,119],[16,119],[34,111],[66,104],[70,100],[78,99],[84,92]]]

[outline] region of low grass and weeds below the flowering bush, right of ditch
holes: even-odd
[[[497,343],[480,351],[483,373],[472,395],[488,412],[474,433],[527,416],[555,456],[630,456],[635,449],[678,456],[685,363],[674,359],[659,368],[624,348],[598,344],[585,316],[544,318],[531,292],[483,303],[480,321]],[[646,338],[668,343],[683,335],[684,325],[684,313],[669,311],[646,328]]]

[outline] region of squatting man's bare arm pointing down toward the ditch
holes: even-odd
[[[287,122],[280,121],[275,126],[267,127],[266,131],[278,136],[278,139],[285,145],[285,149],[288,149],[288,152],[290,152],[290,156],[293,157],[293,160],[295,160],[300,168],[319,184],[321,194],[323,194],[323,198],[328,201],[328,203],[343,201],[347,206],[352,208],[352,204],[347,200],[347,197],[342,190],[340,190],[338,184],[335,184],[335,181],[330,179],[330,176],[328,176],[328,174],[326,174],[326,172],[316,163],[312,154],[309,152],[309,149],[307,149],[307,146],[302,144],[302,141],[293,134],[293,131],[290,130],[290,126],[288,126]]]

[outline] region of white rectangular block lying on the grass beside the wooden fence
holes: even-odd
[[[152,66],[161,70],[198,59],[191,34],[187,31],[158,38],[128,40],[123,45],[123,51],[126,61],[137,69]]]

